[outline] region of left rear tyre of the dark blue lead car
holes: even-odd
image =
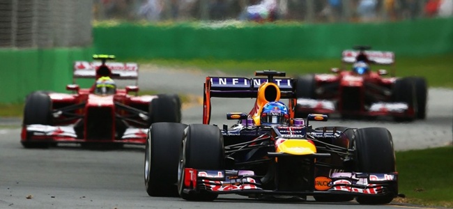
[[[153,123],[145,148],[145,187],[149,196],[178,196],[179,146],[182,123]]]

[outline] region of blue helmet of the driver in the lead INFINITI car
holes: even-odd
[[[283,102],[268,102],[261,112],[261,125],[287,125],[288,107]]]

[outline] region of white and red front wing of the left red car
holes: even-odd
[[[120,143],[145,144],[146,132],[144,128],[129,127],[121,139],[79,139],[72,125],[24,125],[21,141],[30,142],[57,142],[57,143]]]

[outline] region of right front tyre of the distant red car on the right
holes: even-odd
[[[415,85],[410,77],[397,79],[392,89],[393,102],[404,102],[408,104],[409,110],[414,109],[417,113],[417,102],[415,100]],[[404,116],[394,116],[398,122],[413,121],[415,116],[405,114]]]

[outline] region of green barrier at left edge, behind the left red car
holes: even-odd
[[[66,91],[74,61],[91,56],[92,47],[0,49],[0,103],[24,102],[32,91]]]

